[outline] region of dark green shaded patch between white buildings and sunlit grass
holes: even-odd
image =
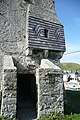
[[[80,91],[64,91],[64,113],[80,113]]]

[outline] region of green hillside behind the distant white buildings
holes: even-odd
[[[61,63],[62,70],[78,71],[80,73],[80,64],[77,63]]]

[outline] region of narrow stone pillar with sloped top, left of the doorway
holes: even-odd
[[[17,69],[11,56],[4,56],[1,115],[16,118]]]

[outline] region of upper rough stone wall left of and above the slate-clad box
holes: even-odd
[[[32,1],[32,4],[24,0],[0,1],[0,51],[4,54],[26,55],[30,15],[60,24],[52,0]]]

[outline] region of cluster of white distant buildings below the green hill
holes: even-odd
[[[64,71],[63,82],[65,90],[80,91],[80,77],[76,71]]]

